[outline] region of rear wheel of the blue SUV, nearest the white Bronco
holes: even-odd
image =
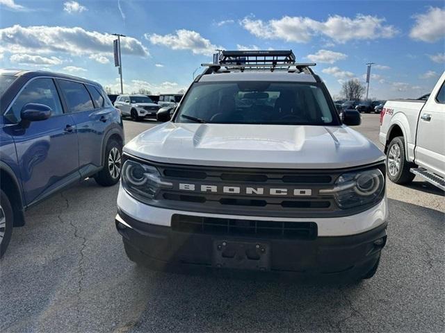
[[[106,144],[104,167],[96,173],[95,180],[102,186],[115,185],[120,179],[122,170],[122,146],[115,140]]]

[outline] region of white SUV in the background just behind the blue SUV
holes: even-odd
[[[154,103],[147,95],[120,95],[114,102],[115,108],[122,113],[122,117],[131,117],[134,121],[144,118],[156,119],[159,105]]]

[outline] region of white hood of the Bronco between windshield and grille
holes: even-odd
[[[167,122],[132,139],[124,152],[154,162],[276,169],[341,169],[385,158],[347,126]]]

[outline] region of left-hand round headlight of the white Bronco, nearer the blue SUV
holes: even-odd
[[[161,180],[155,167],[127,160],[122,167],[122,186],[140,201],[146,202],[156,197],[161,188],[173,187],[171,182]]]

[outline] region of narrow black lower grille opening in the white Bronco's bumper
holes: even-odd
[[[219,219],[181,214],[172,216],[172,230],[260,238],[315,239],[317,237],[317,225],[314,222]]]

